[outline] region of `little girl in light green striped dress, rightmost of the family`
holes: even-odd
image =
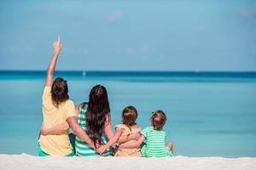
[[[173,144],[165,143],[166,132],[163,127],[166,123],[166,114],[163,111],[154,111],[150,121],[151,126],[143,129],[142,136],[137,141],[121,144],[119,148],[137,148],[143,144],[143,157],[173,156]]]

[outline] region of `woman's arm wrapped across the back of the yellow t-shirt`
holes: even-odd
[[[67,122],[62,123],[61,125],[50,127],[50,128],[44,128],[44,126],[41,127],[41,134],[43,135],[49,135],[49,134],[60,134],[64,133],[68,130],[69,125]]]

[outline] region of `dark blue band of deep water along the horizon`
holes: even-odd
[[[44,76],[46,70],[0,70],[0,76]],[[256,78],[256,71],[55,71],[73,77],[237,77]]]

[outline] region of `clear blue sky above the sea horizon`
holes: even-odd
[[[256,71],[256,0],[0,1],[0,70]]]

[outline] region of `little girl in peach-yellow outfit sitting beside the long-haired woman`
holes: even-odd
[[[136,123],[137,120],[137,110],[135,107],[129,105],[125,107],[125,109],[122,112],[122,123],[117,125],[116,133],[113,137],[113,139],[110,139],[108,141],[108,144],[102,145],[97,151],[102,153],[104,150],[107,150],[108,147],[116,143],[120,136],[127,136],[135,133],[141,132],[141,127],[139,127]],[[136,142],[135,139],[132,139],[130,141],[125,142],[124,144],[131,144],[133,142]],[[140,151],[140,146],[133,147],[131,149],[121,149],[117,148],[115,150],[114,156],[142,156]]]

